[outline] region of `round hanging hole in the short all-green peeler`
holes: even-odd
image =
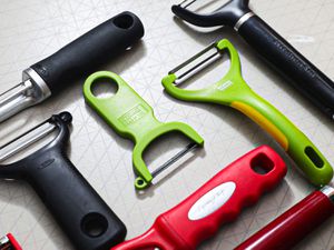
[[[99,78],[92,82],[90,91],[97,98],[110,98],[117,93],[118,84],[110,78]]]

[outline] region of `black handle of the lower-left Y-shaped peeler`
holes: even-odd
[[[124,223],[65,154],[46,151],[29,172],[28,182],[76,249],[107,250],[125,239]]]

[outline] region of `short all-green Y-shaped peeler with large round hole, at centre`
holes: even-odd
[[[117,92],[112,97],[99,98],[92,93],[92,86],[100,79],[117,84]],[[153,108],[119,76],[108,71],[99,71],[91,74],[85,82],[84,96],[87,103],[120,136],[135,142],[132,164],[137,178],[135,187],[138,190],[147,188],[153,179],[197,147],[204,146],[203,138],[188,124],[181,122],[158,121]],[[143,160],[146,148],[157,138],[170,132],[180,132],[191,139],[184,150],[166,163],[150,172]]]

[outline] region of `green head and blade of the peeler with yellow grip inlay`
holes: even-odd
[[[230,68],[225,77],[218,82],[198,90],[186,90],[178,88],[178,86],[184,83],[194,74],[202,71],[208,64],[217,61],[224,56],[229,57]],[[191,62],[200,57],[204,57],[205,59],[193,66],[184,73],[179,73],[181,69],[188,67]],[[230,103],[244,92],[249,91],[249,87],[242,77],[238,52],[226,39],[210,44],[186,62],[169,71],[168,76],[163,79],[163,86],[170,96],[180,100],[214,102],[227,106],[230,106]]]

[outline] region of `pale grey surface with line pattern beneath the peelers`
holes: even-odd
[[[140,44],[104,67],[119,73],[150,103],[163,121],[185,121],[205,138],[205,150],[181,170],[159,182],[147,194],[134,189],[130,141],[109,129],[86,104],[82,82],[0,124],[3,143],[28,128],[68,110],[73,114],[71,161],[89,180],[128,228],[127,239],[147,230],[155,218],[196,190],[224,166],[256,146],[273,140],[246,117],[227,108],[193,104],[170,99],[163,92],[161,78],[217,38],[230,39],[240,52],[243,73],[249,86],[282,110],[334,163],[333,122],[323,117],[284,80],[269,70],[233,31],[193,29],[175,19],[164,0],[0,0],[0,91],[20,81],[21,71],[55,52],[79,34],[124,10],[137,13],[146,28]],[[254,0],[254,10],[297,49],[334,79],[334,1]],[[210,77],[218,79],[216,69]],[[170,142],[170,141],[169,141]],[[148,157],[160,158],[175,139],[157,146]],[[282,153],[284,156],[284,153]],[[164,156],[161,156],[164,158]],[[287,158],[285,158],[287,159]],[[199,249],[232,249],[312,191],[288,161],[285,181],[246,209],[238,220],[222,227]],[[328,250],[334,246],[334,220],[307,237],[299,249]],[[71,249],[68,240],[35,194],[22,182],[0,181],[0,234],[13,232],[24,250]]]

